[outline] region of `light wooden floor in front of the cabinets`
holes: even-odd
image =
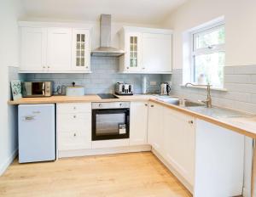
[[[19,164],[0,177],[0,196],[191,196],[150,152]]]

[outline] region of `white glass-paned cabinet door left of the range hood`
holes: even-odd
[[[72,70],[90,71],[90,32],[73,30]]]

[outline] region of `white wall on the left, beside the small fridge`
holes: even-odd
[[[9,66],[18,66],[17,19],[22,14],[19,0],[0,1],[0,175],[17,149],[15,107],[9,100]]]

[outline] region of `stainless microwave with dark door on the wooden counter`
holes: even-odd
[[[53,92],[52,82],[22,82],[22,97],[50,97]]]

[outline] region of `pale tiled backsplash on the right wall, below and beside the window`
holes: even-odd
[[[181,87],[182,76],[182,69],[173,70],[172,94],[206,99],[205,89]],[[212,90],[213,104],[256,113],[256,65],[224,67],[224,88],[227,92]]]

